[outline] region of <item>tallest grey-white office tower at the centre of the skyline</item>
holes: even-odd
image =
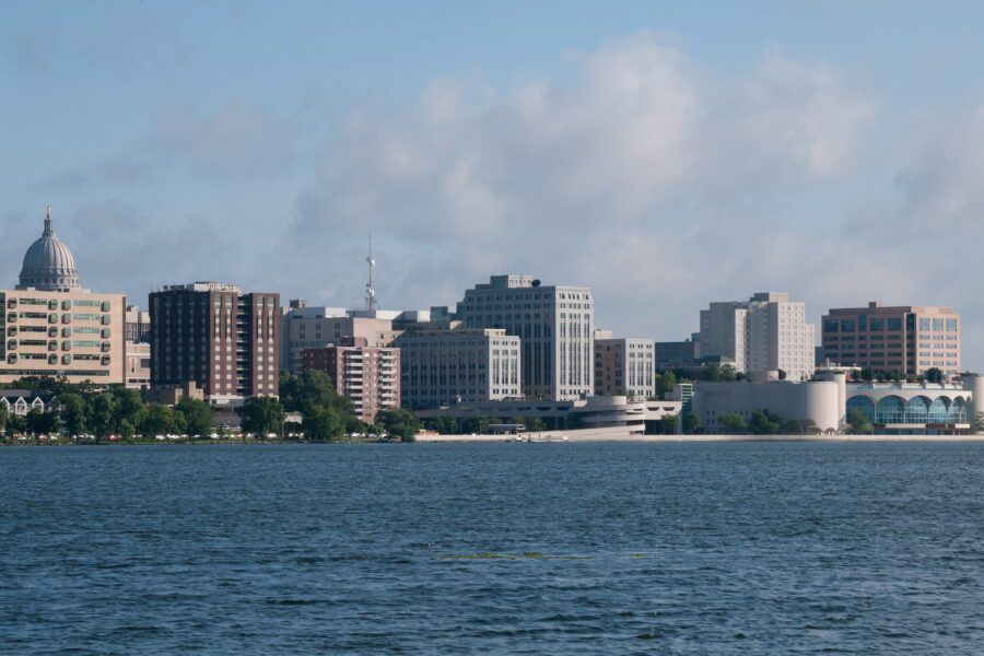
[[[522,339],[522,391],[570,400],[595,391],[595,309],[584,286],[543,286],[529,276],[492,276],[465,292],[456,317]]]

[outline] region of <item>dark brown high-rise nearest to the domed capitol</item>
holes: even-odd
[[[194,382],[212,405],[279,394],[280,295],[195,282],[150,295],[151,383]]]

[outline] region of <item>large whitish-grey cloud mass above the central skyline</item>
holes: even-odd
[[[528,272],[588,284],[600,325],[664,339],[712,298],[840,261],[782,211],[863,159],[868,90],[775,51],[722,80],[652,34],[570,62],[564,84],[438,79],[406,110],[353,112],[298,200],[292,248],[343,256],[372,230],[408,276],[453,276],[456,297]],[[455,300],[418,286],[405,304]]]

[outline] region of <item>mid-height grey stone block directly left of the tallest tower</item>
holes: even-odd
[[[400,395],[412,410],[522,395],[520,339],[502,328],[412,329],[397,338]]]

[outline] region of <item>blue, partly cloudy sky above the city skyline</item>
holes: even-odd
[[[390,309],[499,273],[678,340],[712,301],[952,306],[984,368],[977,2],[12,2],[0,286]],[[819,330],[818,330],[819,335]]]

